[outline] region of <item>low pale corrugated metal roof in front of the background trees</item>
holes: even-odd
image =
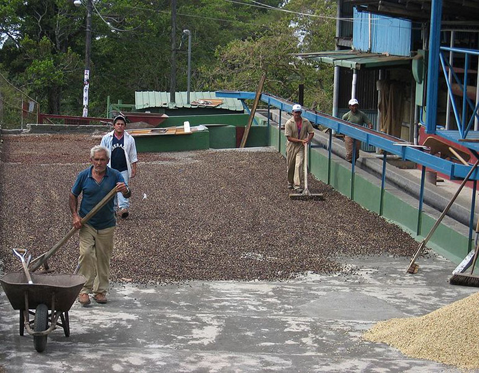
[[[195,101],[207,101],[208,99],[221,99],[223,103],[216,106],[216,109],[226,109],[234,112],[243,112],[244,107],[239,99],[216,97],[215,92],[190,92],[190,103],[187,103],[187,92],[175,92],[175,102],[170,102],[170,92],[145,91],[135,92],[136,110],[147,109],[148,107],[168,107],[175,109],[180,107],[205,107],[204,105],[192,105]]]

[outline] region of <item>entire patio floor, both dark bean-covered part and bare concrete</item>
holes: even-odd
[[[12,247],[35,257],[70,229],[68,190],[99,140],[53,138],[49,153],[39,152],[48,136],[4,142],[6,272],[20,268]],[[429,253],[418,274],[405,274],[417,242],[317,180],[311,189],[324,201],[289,201],[284,159],[271,149],[140,162],[109,302],[75,303],[70,337],[53,331],[40,354],[18,335],[18,311],[0,290],[0,372],[459,372],[361,339],[379,320],[476,292],[448,284],[450,261]],[[74,236],[52,258],[55,270],[73,271],[77,250]]]

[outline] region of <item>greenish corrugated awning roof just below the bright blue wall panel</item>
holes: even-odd
[[[315,53],[298,53],[302,58],[341,66],[346,68],[375,68],[380,66],[397,66],[410,64],[412,57],[397,55],[383,55],[378,53],[364,53],[360,51],[325,51]]]

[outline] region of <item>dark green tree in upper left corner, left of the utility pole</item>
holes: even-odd
[[[66,0],[0,3],[0,31],[9,41],[0,62],[51,113],[60,112],[62,90],[80,68],[79,55],[69,47],[79,23],[71,8]]]

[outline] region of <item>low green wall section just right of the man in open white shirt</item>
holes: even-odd
[[[135,143],[138,153],[209,149],[209,131],[190,135],[135,136]]]

